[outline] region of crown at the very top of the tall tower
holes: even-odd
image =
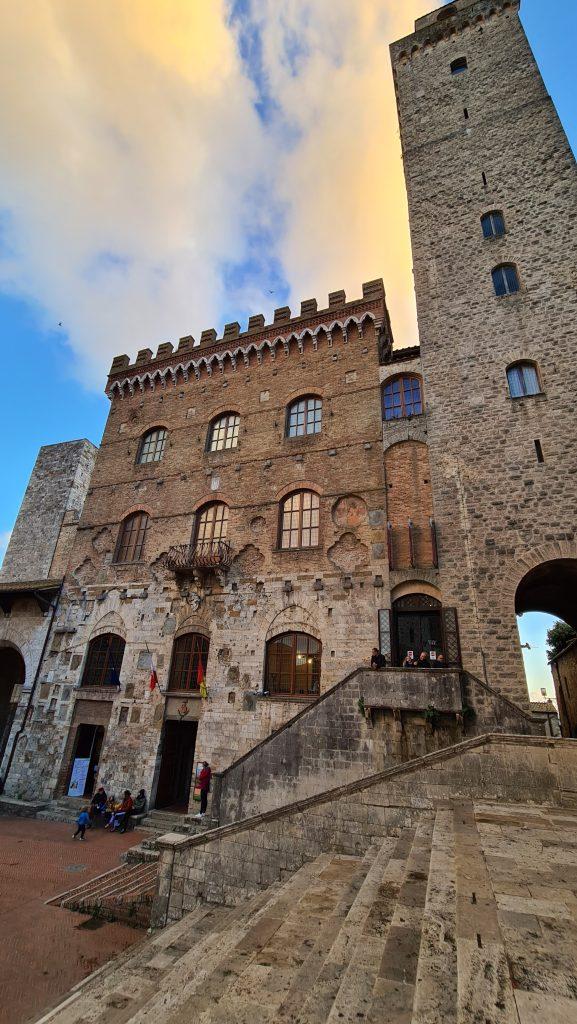
[[[394,63],[410,59],[419,50],[442,39],[450,39],[463,29],[482,26],[499,14],[519,11],[521,0],[455,0],[429,14],[418,17],[415,31],[390,44]]]

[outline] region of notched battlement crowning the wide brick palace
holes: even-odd
[[[112,361],[107,392],[118,390],[121,382],[127,382],[130,387],[132,380],[141,381],[145,376],[151,381],[157,375],[164,380],[166,373],[170,371],[174,376],[180,370],[184,378],[188,378],[189,370],[192,369],[198,376],[201,365],[211,373],[213,364],[222,369],[225,359],[230,359],[234,369],[237,358],[241,356],[246,361],[251,349],[259,353],[263,346],[269,346],[274,351],[278,344],[286,346],[290,338],[301,340],[307,332],[316,334],[319,330],[330,333],[336,326],[346,334],[352,324],[357,324],[362,329],[363,319],[367,315],[378,329],[385,324],[391,343],[384,286],[380,278],[365,282],[362,298],[349,302],[346,301],[344,291],[331,292],[328,306],[323,309],[318,308],[317,299],[305,299],[300,303],[297,316],[292,315],[289,306],[280,306],[275,309],[273,323],[269,325],[265,324],[264,315],[259,313],[249,317],[246,331],[241,331],[240,324],[235,321],[224,325],[221,338],[217,337],[214,329],[210,329],[202,332],[198,343],[191,335],[180,338],[176,348],[171,342],[164,342],[159,345],[156,355],[153,355],[152,348],[141,348],[134,362],[130,362],[128,355],[117,355]]]

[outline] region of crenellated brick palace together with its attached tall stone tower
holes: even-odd
[[[518,6],[456,0],[391,47],[420,347],[373,281],[113,361],[9,791],[184,808],[200,761],[226,771],[373,646],[529,712],[516,613],[577,615],[577,195]]]

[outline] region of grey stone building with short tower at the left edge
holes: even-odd
[[[28,722],[96,450],[42,447],[0,568],[0,777]]]

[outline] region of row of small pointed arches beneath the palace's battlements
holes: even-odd
[[[223,374],[224,370],[236,371],[237,367],[248,366],[251,355],[256,356],[257,361],[262,361],[262,355],[266,351],[272,359],[276,358],[277,350],[282,348],[285,354],[290,354],[291,344],[295,345],[299,354],[303,351],[304,339],[311,338],[315,348],[318,347],[321,337],[326,338],[329,347],[333,344],[333,332],[337,329],[342,334],[343,342],[347,341],[348,332],[356,327],[360,336],[363,337],[364,326],[369,322],[373,327],[377,324],[377,317],[369,311],[361,316],[347,316],[345,319],[327,319],[326,323],[319,324],[318,327],[304,328],[302,331],[292,331],[287,335],[271,336],[262,341],[249,342],[247,345],[239,345],[237,348],[224,349],[219,352],[212,352],[207,355],[200,355],[198,358],[178,362],[175,366],[165,367],[158,370],[148,370],[143,374],[135,374],[125,377],[122,381],[115,381],[108,389],[111,396],[115,394],[124,397],[125,394],[133,395],[136,391],[143,391],[146,387],[154,390],[156,387],[165,388],[168,383],[176,385],[178,380],[188,381],[194,376],[200,380],[201,373],[212,376],[213,371]]]

